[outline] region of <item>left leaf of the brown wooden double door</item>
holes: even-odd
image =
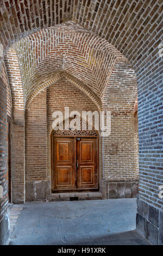
[[[54,190],[76,188],[73,138],[54,138]]]

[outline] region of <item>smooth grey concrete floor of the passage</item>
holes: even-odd
[[[135,231],[135,218],[136,199],[130,198],[26,203],[12,227],[10,243],[148,245]]]

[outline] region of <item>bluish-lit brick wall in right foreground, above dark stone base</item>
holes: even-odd
[[[162,208],[159,186],[163,184],[162,172],[162,70],[159,57],[159,35],[153,38],[156,46],[144,56],[137,70],[139,100],[139,167],[140,199],[156,208]],[[149,59],[149,63],[147,63]]]

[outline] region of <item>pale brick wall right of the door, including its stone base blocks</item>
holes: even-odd
[[[103,137],[102,189],[106,198],[138,193],[137,82],[132,66],[118,62],[110,75],[103,110],[111,111],[111,134]]]

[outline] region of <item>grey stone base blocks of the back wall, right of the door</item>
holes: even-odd
[[[101,192],[104,199],[135,198],[139,193],[139,181],[101,180]]]

